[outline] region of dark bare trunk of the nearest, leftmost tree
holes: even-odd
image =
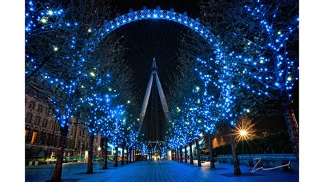
[[[62,164],[63,164],[63,155],[64,155],[64,148],[66,145],[66,139],[68,136],[68,126],[65,126],[64,128],[59,128],[60,130],[60,136],[59,136],[59,146],[57,149],[57,159],[56,164],[54,168],[54,173],[52,176],[51,181],[62,181]]]

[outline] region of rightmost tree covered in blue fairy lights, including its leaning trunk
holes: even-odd
[[[256,97],[268,97],[282,105],[288,133],[296,157],[299,157],[298,124],[293,112],[293,89],[298,81],[298,8],[295,1],[272,5],[245,5],[243,21],[253,30],[253,47],[234,55],[246,79],[241,86]],[[289,9],[291,16],[285,16]],[[242,21],[242,20],[240,20]],[[258,64],[258,60],[262,60]],[[253,84],[252,84],[253,83]],[[244,84],[244,85],[243,85]]]

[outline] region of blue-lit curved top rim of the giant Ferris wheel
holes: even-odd
[[[180,14],[177,12],[172,12],[168,10],[140,10],[135,12],[129,12],[122,16],[118,16],[113,20],[105,23],[105,25],[96,31],[98,35],[96,38],[92,38],[90,42],[87,44],[87,50],[93,51],[96,48],[96,45],[107,36],[111,31],[118,29],[122,25],[126,25],[127,23],[131,23],[134,21],[146,20],[146,19],[163,19],[167,21],[174,21],[176,23],[180,23],[181,25],[185,25],[189,29],[197,32],[200,36],[202,36],[208,43],[213,46],[218,46],[215,44],[216,37],[214,34],[207,29],[204,25],[199,23],[199,21],[186,16],[185,14]]]

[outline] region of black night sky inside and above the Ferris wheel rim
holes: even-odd
[[[148,9],[157,8],[157,5],[163,10],[174,8],[175,12],[187,12],[191,18],[199,16],[197,1],[112,1],[111,5],[116,6],[120,15],[133,11],[142,10],[143,6]],[[159,68],[158,74],[165,94],[169,94],[170,75],[178,74],[176,66],[178,65],[177,51],[179,47],[180,34],[188,31],[183,25],[165,20],[144,20],[129,23],[118,29],[118,34],[125,37],[126,47],[129,51],[125,59],[132,68],[136,86],[141,98],[144,98],[144,92],[150,76],[153,57],[157,60]],[[297,91],[298,91],[298,87]],[[140,107],[140,105],[139,105]],[[148,107],[149,108],[149,107]],[[298,120],[298,112],[296,113]],[[286,130],[284,116],[259,117],[254,118],[258,135],[262,132],[275,133]]]

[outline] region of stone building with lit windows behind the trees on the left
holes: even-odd
[[[59,142],[59,123],[44,103],[25,97],[25,161],[46,161],[55,156]],[[87,156],[89,133],[85,125],[71,125],[64,155]],[[94,155],[98,155],[100,133],[94,139]]]

